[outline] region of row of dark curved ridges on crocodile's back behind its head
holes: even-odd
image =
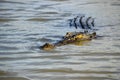
[[[73,19],[70,19],[70,27],[75,27],[76,29],[80,28],[82,30],[93,30],[95,27],[94,18],[82,16],[76,16]]]

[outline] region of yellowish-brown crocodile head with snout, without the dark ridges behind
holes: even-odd
[[[66,35],[63,37],[62,40],[50,44],[45,43],[43,46],[40,46],[43,50],[51,50],[58,46],[63,46],[67,44],[77,44],[83,41],[90,41],[96,37],[96,33],[85,33],[85,32],[67,32]]]

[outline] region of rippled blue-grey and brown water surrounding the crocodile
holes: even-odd
[[[67,20],[96,19],[101,37],[52,51]],[[0,0],[0,80],[120,80],[120,0]]]

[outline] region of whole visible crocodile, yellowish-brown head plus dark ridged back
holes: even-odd
[[[43,50],[51,50],[59,46],[67,45],[67,44],[78,44],[80,42],[85,41],[91,41],[92,39],[95,39],[97,37],[96,32],[93,31],[92,33],[88,32],[88,30],[91,30],[92,27],[94,27],[94,18],[88,17],[86,19],[86,26],[83,24],[82,19],[85,16],[77,16],[74,19],[70,19],[70,27],[74,26],[76,29],[78,27],[84,29],[83,32],[67,32],[63,38],[56,42],[56,43],[45,43],[44,45],[40,46],[40,49]],[[79,20],[77,20],[79,18]],[[89,24],[90,19],[92,19],[91,24]],[[73,23],[72,23],[73,22]],[[79,22],[81,25],[78,25]],[[92,26],[92,27],[91,27]]]

